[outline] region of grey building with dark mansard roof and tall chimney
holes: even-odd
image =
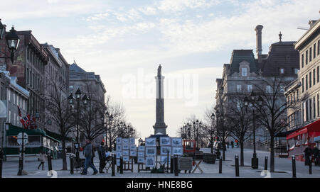
[[[249,95],[255,91],[257,86],[262,88],[265,81],[273,81],[274,78],[281,77],[283,84],[289,84],[297,78],[299,71],[299,52],[294,50],[293,41],[282,41],[279,34],[279,42],[272,43],[267,55],[262,54],[262,28],[259,25],[255,28],[257,34],[257,58],[253,50],[233,50],[230,64],[223,65],[223,77],[216,79],[216,105],[215,110],[224,111],[230,103],[230,98],[234,95]],[[283,86],[284,86],[283,85]],[[265,86],[265,85],[263,85]],[[262,89],[272,89],[265,86]],[[285,97],[280,96],[279,102],[285,102]],[[257,128],[257,141],[268,140],[267,130]]]

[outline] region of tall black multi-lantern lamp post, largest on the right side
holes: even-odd
[[[251,163],[251,166],[252,166],[252,169],[257,169],[257,168],[258,168],[257,153],[256,153],[256,150],[255,150],[255,103],[257,103],[257,105],[258,105],[259,107],[261,107],[261,106],[262,106],[262,103],[263,103],[263,99],[262,99],[261,96],[257,96],[254,91],[251,91],[249,97],[245,96],[244,102],[245,102],[245,107],[246,107],[246,109],[248,108],[249,103],[251,103],[251,106],[252,106],[252,118],[253,118],[253,123],[252,123],[252,127],[253,127],[253,158],[252,158],[252,161],[251,161],[251,162],[252,162],[252,163]]]

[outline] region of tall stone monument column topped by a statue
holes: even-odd
[[[158,67],[156,79],[156,124],[154,125],[154,135],[161,133],[166,135],[167,125],[164,123],[164,76],[161,75],[161,64]]]

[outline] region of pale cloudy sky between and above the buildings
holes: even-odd
[[[262,49],[271,43],[298,40],[319,18],[319,1],[306,0],[159,0],[159,1],[11,1],[0,7],[2,23],[33,30],[41,43],[60,47],[68,62],[100,74],[113,101],[127,108],[127,119],[142,137],[155,122],[154,99],[123,98],[124,74],[198,74],[199,103],[165,101],[165,121],[175,135],[191,113],[203,116],[215,103],[215,79],[233,49],[255,50],[255,26],[261,24]]]

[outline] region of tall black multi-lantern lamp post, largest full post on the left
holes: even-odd
[[[79,160],[79,148],[80,148],[80,138],[79,138],[79,115],[80,115],[80,98],[81,98],[81,94],[82,92],[80,91],[80,89],[78,88],[77,91],[75,91],[75,97],[73,96],[73,94],[71,93],[70,96],[68,96],[68,100],[70,105],[73,105],[73,101],[76,99],[77,100],[77,145],[75,147],[76,152],[75,152],[75,158],[77,159],[77,162]],[[82,103],[84,106],[87,106],[87,101],[89,101],[89,98],[87,97],[87,95],[85,94],[82,97]]]

